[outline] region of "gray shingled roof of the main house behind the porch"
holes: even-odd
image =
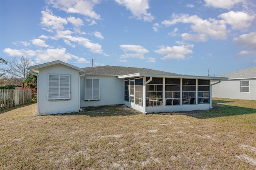
[[[108,74],[108,75],[127,75],[134,73],[157,73],[157,74],[174,74],[180,75],[172,72],[152,70],[148,68],[136,68],[136,67],[122,67],[122,66],[95,66],[95,67],[85,67],[82,68],[86,70],[86,73],[90,74]]]

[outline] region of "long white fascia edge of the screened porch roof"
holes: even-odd
[[[139,77],[139,76],[147,76],[147,77],[166,77],[166,78],[199,78],[206,80],[228,80],[227,77],[212,77],[212,76],[192,76],[192,75],[181,75],[181,74],[156,74],[156,73],[135,73],[128,74],[123,76],[118,76],[118,78],[130,78],[130,77]]]

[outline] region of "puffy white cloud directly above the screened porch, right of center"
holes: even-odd
[[[191,50],[194,45],[180,45],[180,46],[160,46],[158,50],[155,50],[155,53],[165,55],[162,59],[186,59],[185,55],[192,54],[193,51]],[[189,58],[189,57],[188,57]]]

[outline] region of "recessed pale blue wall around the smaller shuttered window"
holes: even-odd
[[[84,100],[84,78],[100,79],[100,100]],[[124,104],[124,80],[116,76],[82,76],[81,107]]]

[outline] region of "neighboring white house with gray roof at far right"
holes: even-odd
[[[212,86],[212,97],[256,100],[256,67],[220,76],[228,77],[228,80],[222,80],[219,84]]]

